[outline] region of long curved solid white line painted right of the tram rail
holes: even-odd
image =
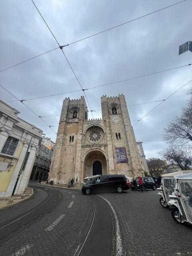
[[[99,195],[97,195],[99,196]],[[119,227],[119,221],[118,221],[118,218],[117,218],[117,214],[113,208],[113,206],[110,204],[110,202],[108,200],[106,200],[104,197],[100,196],[101,198],[103,198],[109,205],[109,207],[111,208],[113,214],[114,214],[114,217],[115,217],[115,225],[116,225],[116,240],[117,240],[117,243],[116,243],[116,256],[123,256],[125,255],[124,252],[123,252],[123,247],[122,247],[122,243],[121,243],[121,236],[120,236],[120,227]]]

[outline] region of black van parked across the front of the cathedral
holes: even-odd
[[[116,191],[122,193],[123,190],[127,190],[128,185],[124,175],[99,175],[90,182],[82,186],[82,193],[91,194],[103,191]]]

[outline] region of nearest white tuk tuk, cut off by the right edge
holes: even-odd
[[[168,203],[176,207],[172,209],[171,215],[179,224],[192,224],[192,172],[175,175],[174,178],[176,186]]]

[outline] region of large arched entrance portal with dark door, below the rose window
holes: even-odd
[[[82,178],[97,174],[108,174],[106,156],[102,150],[90,150],[84,156],[83,162]]]

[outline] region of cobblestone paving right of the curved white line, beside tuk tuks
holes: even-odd
[[[118,214],[126,256],[192,256],[192,226],[177,224],[157,191],[100,194]]]

